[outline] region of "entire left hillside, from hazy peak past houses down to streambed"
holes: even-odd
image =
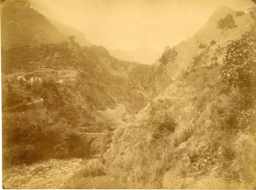
[[[82,46],[80,32],[56,25],[65,34],[26,1],[1,5],[4,167],[100,154],[107,137],[91,150],[97,137],[81,134],[111,135],[158,93],[142,82],[152,75],[150,65]]]

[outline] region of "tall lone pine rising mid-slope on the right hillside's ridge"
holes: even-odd
[[[166,46],[164,48],[164,52],[162,53],[162,56],[159,59],[160,67],[164,70],[164,82],[166,72],[170,69],[170,63],[174,63],[177,55],[178,53],[176,52],[174,47],[170,48],[170,46]]]

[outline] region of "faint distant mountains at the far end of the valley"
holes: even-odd
[[[109,50],[110,55],[125,61],[136,61],[143,64],[152,64],[161,56],[161,53],[149,48],[142,47],[134,51],[124,51],[121,49]]]

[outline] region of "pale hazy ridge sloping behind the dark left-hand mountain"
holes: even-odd
[[[69,36],[75,36],[76,42],[78,42],[81,46],[92,46],[92,43],[89,40],[86,40],[84,34],[71,26],[68,26],[58,20],[50,20],[50,22],[55,26],[58,31],[68,39]]]

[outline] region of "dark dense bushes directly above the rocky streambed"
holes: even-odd
[[[68,132],[68,124],[60,122],[51,127],[41,114],[29,111],[26,114],[4,115],[4,167],[48,158],[81,158],[90,154],[86,139]],[[84,146],[79,146],[81,143]]]

